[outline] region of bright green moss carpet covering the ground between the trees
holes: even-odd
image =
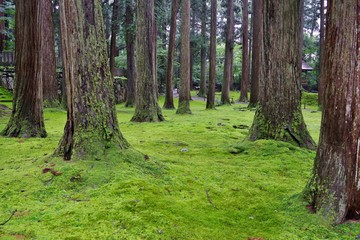
[[[321,114],[312,109],[304,116],[317,141]],[[283,142],[244,141],[254,115],[246,105],[205,110],[205,102],[196,100],[191,110],[192,115],[163,110],[165,122],[133,123],[134,109],[118,105],[124,136],[145,156],[127,150],[110,151],[98,161],[51,158],[66,119],[61,109],[45,109],[46,139],[1,137],[0,224],[14,215],[0,225],[0,239],[355,239],[360,234],[359,224],[333,227],[306,208],[302,192],[315,152]],[[8,118],[0,117],[0,129]]]

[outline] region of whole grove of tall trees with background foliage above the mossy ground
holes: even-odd
[[[134,122],[165,120],[160,95],[165,109],[175,109],[178,98],[176,112],[191,114],[192,97],[214,110],[234,103],[231,89],[245,103],[250,92],[256,112],[248,139],[317,150],[305,191],[311,205],[333,223],[360,219],[358,1],[9,0],[0,6],[6,15],[0,50],[16,56],[3,136],[46,137],[44,103],[61,101],[64,85],[67,121],[56,153],[100,160],[108,149],[131,147],[118,125],[116,81],[124,81]],[[314,69],[310,75],[302,74],[304,61]],[[55,77],[59,69],[62,80]],[[305,88],[319,91],[319,146],[302,115]]]

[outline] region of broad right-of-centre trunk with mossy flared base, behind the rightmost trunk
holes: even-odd
[[[264,0],[263,78],[250,139],[275,139],[313,149],[301,112],[301,18],[298,0]]]

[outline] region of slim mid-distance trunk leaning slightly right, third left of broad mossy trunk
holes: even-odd
[[[230,104],[230,83],[233,78],[232,62],[234,57],[234,0],[228,0],[227,6],[228,14],[226,25],[224,83],[221,93],[222,104]]]

